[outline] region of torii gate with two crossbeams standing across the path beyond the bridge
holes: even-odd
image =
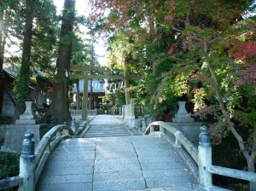
[[[84,74],[71,74],[70,78],[84,78],[84,92],[82,101],[82,119],[87,119],[87,107],[88,107],[88,79],[122,79],[125,80],[125,101],[126,105],[129,104],[131,99],[130,91],[127,90],[130,87],[129,80],[139,79],[137,76],[129,76],[129,71],[125,67],[125,71],[121,70],[110,70],[107,67],[94,67],[94,66],[79,66],[70,65],[70,71],[81,71]],[[101,75],[89,75],[89,72],[102,72]],[[124,72],[124,76],[121,75],[109,75],[109,72]]]

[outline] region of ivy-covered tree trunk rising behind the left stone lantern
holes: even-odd
[[[22,47],[21,67],[18,78],[15,80],[16,94],[16,114],[23,113],[25,101],[29,96],[30,67],[31,67],[31,49],[32,49],[32,20],[33,20],[33,0],[26,0],[26,20]]]

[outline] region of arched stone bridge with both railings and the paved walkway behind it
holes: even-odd
[[[85,131],[86,130],[86,131]],[[212,174],[256,182],[253,172],[212,165],[212,148],[201,128],[198,148],[170,124],[153,122],[132,136],[122,120],[97,115],[81,138],[61,124],[49,130],[34,149],[26,133],[20,175],[0,180],[0,189],[23,191],[227,190],[212,185]]]

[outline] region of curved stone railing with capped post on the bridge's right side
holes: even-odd
[[[155,127],[159,128],[159,132],[155,131]],[[170,124],[166,124],[162,121],[155,121],[149,124],[144,132],[144,135],[148,134],[157,136],[174,136],[175,141],[172,142],[173,145],[176,148],[185,148],[190,157],[194,159],[195,164],[198,167],[199,184],[202,188],[206,188],[207,190],[226,190],[212,185],[212,174],[256,182],[256,174],[253,172],[239,171],[212,165],[212,146],[206,126],[201,127],[201,134],[199,137],[200,142],[198,148],[195,148],[193,143],[190,142],[185,136],[183,136],[181,131],[176,130]]]

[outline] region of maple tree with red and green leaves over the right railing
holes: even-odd
[[[210,123],[213,141],[221,142],[230,131],[247,160],[247,171],[255,171],[256,27],[255,16],[247,16],[255,10],[253,1],[95,4],[96,16],[106,16],[106,10],[106,29],[113,36],[128,35],[139,47],[133,51],[144,58],[137,67],[149,68],[143,84],[154,108],[185,97],[195,103],[195,115],[201,120],[216,113]],[[250,182],[250,189],[255,187]]]

